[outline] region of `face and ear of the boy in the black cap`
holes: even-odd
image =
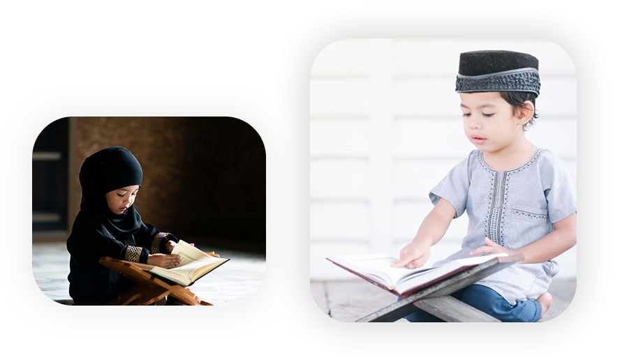
[[[521,140],[523,126],[533,115],[519,112],[512,113],[512,105],[506,102],[498,92],[460,93],[463,126],[468,140],[480,151],[494,152],[510,147]]]

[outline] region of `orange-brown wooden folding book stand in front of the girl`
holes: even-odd
[[[102,256],[99,262],[136,283],[121,295],[120,300],[110,301],[105,305],[150,305],[163,299],[166,295],[175,297],[186,305],[212,305],[198,299],[191,291],[181,285],[170,285],[151,273],[147,273],[145,267],[148,266],[145,264],[126,262],[107,256]]]

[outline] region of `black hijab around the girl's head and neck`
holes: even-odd
[[[105,194],[124,186],[142,187],[142,167],[124,147],[108,147],[92,154],[80,170],[84,216],[96,216],[116,237],[130,237],[140,230],[142,219],[133,204],[120,215],[110,211]]]

